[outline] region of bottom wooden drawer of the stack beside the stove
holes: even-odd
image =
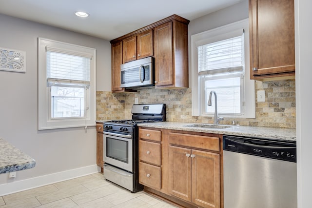
[[[161,168],[139,162],[138,181],[147,187],[161,189]]]

